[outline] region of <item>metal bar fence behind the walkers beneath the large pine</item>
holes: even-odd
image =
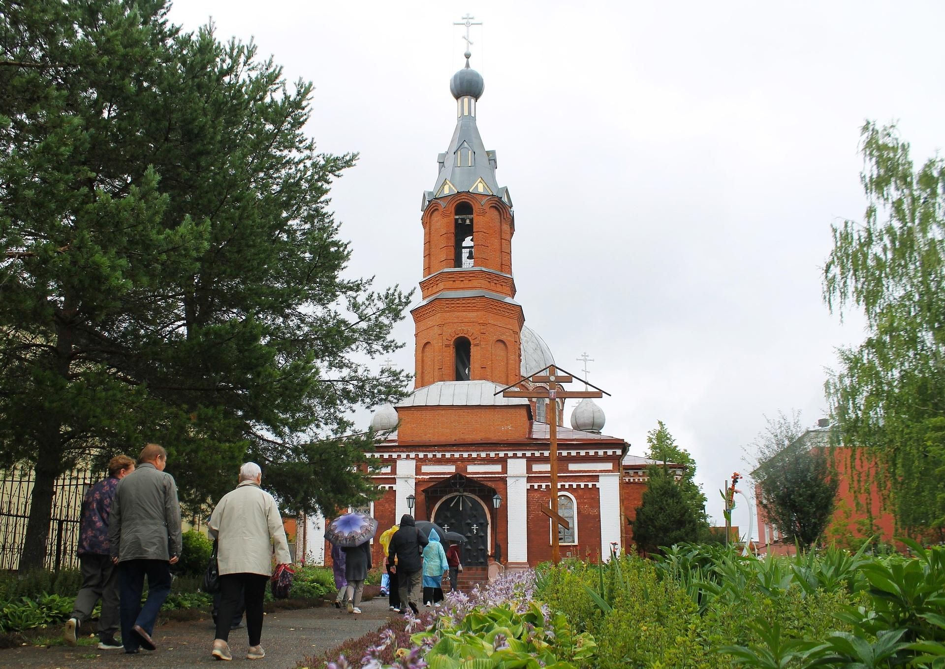
[[[78,520],[86,489],[103,478],[88,470],[74,470],[56,480],[53,486],[52,521],[46,538],[43,566],[59,571],[78,566]],[[20,568],[33,491],[31,469],[0,469],[0,570]]]

